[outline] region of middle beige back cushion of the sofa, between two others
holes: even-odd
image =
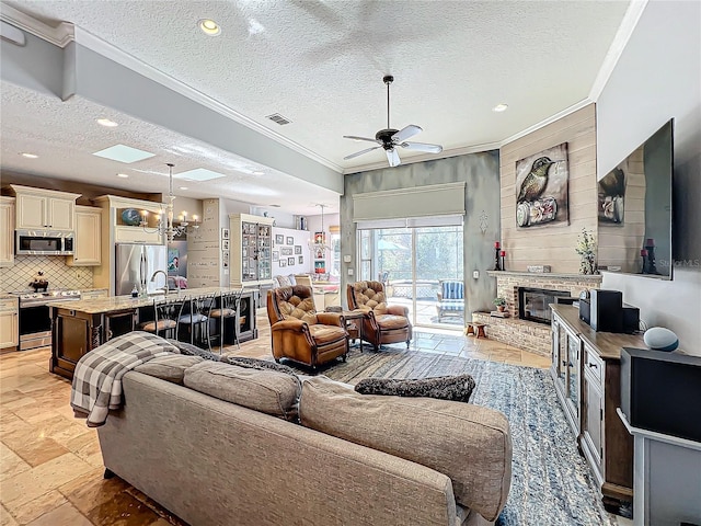
[[[297,420],[301,385],[294,375],[202,362],[185,370],[184,385],[237,405],[285,420]]]

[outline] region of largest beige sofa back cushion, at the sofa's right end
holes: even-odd
[[[430,398],[359,395],[325,377],[303,382],[302,425],[439,471],[456,501],[495,521],[512,478],[506,416],[493,409]]]

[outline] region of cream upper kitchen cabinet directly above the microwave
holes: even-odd
[[[32,188],[11,184],[16,196],[15,225],[18,230],[76,229],[76,199],[80,194]]]

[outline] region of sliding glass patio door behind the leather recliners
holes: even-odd
[[[464,327],[462,225],[358,232],[360,279],[383,282],[388,301],[406,306],[414,325]],[[444,297],[444,283],[455,297]]]

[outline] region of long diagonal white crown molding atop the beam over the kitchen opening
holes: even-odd
[[[281,135],[273,132],[272,129],[263,126],[262,124],[253,121],[252,118],[246,117],[245,115],[237,112],[235,110],[232,110],[231,107],[227,106],[226,104],[222,104],[221,102],[217,101],[216,99],[212,99],[211,96],[203,93],[202,91],[198,91],[192,88],[191,85],[187,85],[186,83],[181,82],[180,80],[171,77],[170,75],[166,75],[163,71],[156,69],[154,67],[139,60],[135,56],[129,55],[128,53],[115,47],[108,42],[105,42],[102,38],[93,35],[92,33],[89,33],[82,27],[76,26],[74,31],[76,31],[76,42],[81,46],[84,46],[88,49],[91,49],[102,55],[103,57],[108,58],[110,60],[113,60],[124,66],[125,68],[136,71],[137,73],[146,77],[147,79],[158,82],[159,84],[164,85],[165,88],[173,90],[174,92],[180,93],[181,95],[186,96],[187,99],[214,112],[217,112],[218,114],[227,118],[230,118],[231,121],[234,121],[254,132],[257,132],[258,134],[267,137],[268,139],[273,139],[276,142],[279,142],[280,145],[286,146],[287,148],[298,153],[301,153],[302,156],[306,156],[312,159],[313,161],[317,161],[320,164],[323,164],[324,167],[330,168],[335,172],[343,173],[343,169],[341,168],[341,165],[330,161],[324,157],[321,157],[320,155],[313,152],[308,148],[304,148],[303,146],[295,142],[294,140],[283,137]]]

